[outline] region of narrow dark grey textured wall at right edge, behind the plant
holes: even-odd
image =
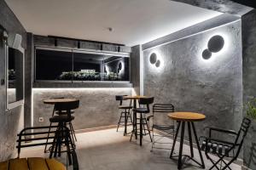
[[[256,9],[241,18],[243,57],[243,103],[256,97]],[[244,115],[246,111],[244,111]],[[244,163],[256,169],[256,121],[253,120],[244,143]]]

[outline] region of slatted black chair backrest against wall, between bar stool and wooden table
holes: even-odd
[[[153,124],[170,125],[170,119],[167,114],[174,112],[174,105],[172,104],[154,104],[153,105]],[[174,124],[174,121],[172,121]]]

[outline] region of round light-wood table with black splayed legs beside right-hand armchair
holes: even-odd
[[[175,134],[174,141],[173,141],[173,144],[172,144],[172,151],[171,151],[170,158],[175,157],[175,156],[173,156],[173,151],[174,151],[174,147],[175,147],[175,144],[176,144],[176,141],[177,141],[177,134],[179,132],[180,126],[182,126],[182,128],[181,128],[181,137],[180,137],[180,145],[179,145],[178,162],[177,162],[177,169],[181,169],[182,166],[183,166],[183,161],[182,161],[182,157],[183,156],[189,157],[190,160],[195,161],[195,163],[197,163],[199,166],[201,166],[202,168],[205,168],[205,163],[204,163],[203,157],[201,155],[200,145],[199,145],[197,134],[196,134],[196,131],[195,131],[194,122],[203,121],[203,120],[206,119],[206,116],[203,115],[203,114],[194,113],[194,112],[172,112],[172,113],[169,113],[168,116],[172,120],[177,121],[177,133]],[[191,156],[183,155],[183,140],[184,140],[184,132],[185,132],[185,124],[186,124],[186,122],[187,122],[187,125],[188,125],[189,147],[190,147],[190,154],[191,154]],[[192,126],[192,132],[194,133],[194,136],[195,136],[195,143],[196,143],[197,149],[199,151],[201,163],[194,159],[194,150],[193,150],[193,143],[192,143],[191,126]]]

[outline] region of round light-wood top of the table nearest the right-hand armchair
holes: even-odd
[[[206,119],[206,116],[201,113],[194,112],[172,112],[168,116],[176,121],[182,122],[196,122]]]

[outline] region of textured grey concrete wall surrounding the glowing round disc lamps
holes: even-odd
[[[204,60],[202,51],[210,37],[224,37],[224,48]],[[151,65],[156,53],[160,67]],[[155,103],[172,103],[176,111],[206,114],[197,122],[199,135],[205,126],[237,129],[242,116],[241,21],[143,51],[144,92]],[[227,121],[229,120],[229,121]]]

